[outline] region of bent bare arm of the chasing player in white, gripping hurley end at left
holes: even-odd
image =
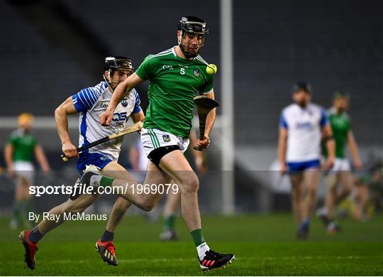
[[[62,152],[67,158],[77,157],[78,153],[76,146],[70,140],[68,131],[68,114],[76,114],[77,110],[74,108],[72,97],[68,97],[57,109],[55,109],[55,120],[57,126],[57,133],[60,136],[62,144]]]

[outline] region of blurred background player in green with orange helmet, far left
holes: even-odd
[[[29,186],[33,182],[33,157],[44,171],[50,170],[43,148],[30,133],[33,116],[23,113],[18,116],[19,129],[13,131],[4,149],[4,158],[9,174],[16,180],[15,202],[10,227],[16,229],[22,222],[30,227],[28,212],[30,212]]]

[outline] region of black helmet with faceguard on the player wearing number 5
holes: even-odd
[[[205,35],[209,33],[208,28],[206,28],[206,22],[196,16],[184,16],[179,21],[177,30],[180,31],[178,45],[179,48],[181,48],[182,53],[184,53],[185,57],[188,59],[195,58],[199,54],[202,46],[204,46]],[[201,39],[201,44],[197,45],[198,49],[194,51],[194,53],[189,49],[190,38],[186,45],[182,44],[182,38],[187,34],[189,34],[189,36],[196,36],[197,40]]]

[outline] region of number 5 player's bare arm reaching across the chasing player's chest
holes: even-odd
[[[113,119],[113,112],[116,109],[118,103],[120,103],[125,97],[126,93],[130,92],[133,87],[140,85],[144,80],[142,80],[140,77],[138,77],[135,72],[126,78],[125,81],[118,84],[116,89],[114,89],[114,92],[111,97],[111,101],[109,102],[108,109],[106,109],[105,112],[100,114],[99,121],[100,124],[103,126],[109,126],[111,123],[111,120]]]

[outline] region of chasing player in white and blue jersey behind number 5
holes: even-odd
[[[78,157],[77,170],[79,170],[80,175],[87,165],[96,165],[104,175],[111,178],[119,178],[121,180],[132,179],[128,171],[117,162],[122,139],[100,144],[79,154],[77,153],[76,146],[74,146],[70,139],[67,126],[68,114],[79,113],[79,146],[81,147],[116,133],[116,131],[125,129],[129,116],[131,116],[134,122],[143,121],[145,116],[140,107],[140,98],[135,89],[132,89],[116,107],[110,126],[101,126],[99,124],[99,114],[108,107],[113,90],[132,73],[133,65],[131,60],[125,57],[108,57],[104,62],[105,81],[100,82],[95,87],[82,89],[77,94],[66,99],[55,110],[57,132],[62,141],[62,152],[65,153],[67,158]],[[95,194],[71,195],[67,202],[50,210],[49,214],[60,215],[57,222],[43,219],[31,231],[21,232],[20,239],[26,249],[25,261],[28,268],[35,268],[35,251],[37,250],[38,241],[51,229],[64,222],[62,215],[65,212],[82,212],[91,203],[96,201],[98,197],[99,195]],[[126,211],[129,205],[130,203],[127,200],[121,198],[113,206],[113,212],[119,210]],[[113,244],[106,242],[111,241],[111,236],[113,236],[113,233],[105,231],[98,244],[107,249],[109,253],[114,253]],[[116,260],[113,261],[113,256],[110,256],[109,259],[112,264],[113,262],[116,264]]]

